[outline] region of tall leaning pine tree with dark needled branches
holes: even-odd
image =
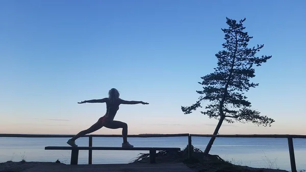
[[[198,101],[189,107],[181,107],[185,114],[192,113],[197,108],[202,108],[202,101],[209,101],[202,114],[209,118],[218,119],[219,122],[214,131],[214,135],[222,125],[222,122],[242,123],[252,122],[258,126],[271,126],[274,119],[260,115],[260,112],[251,109],[251,103],[244,95],[251,87],[256,87],[258,83],[250,82],[250,78],[255,77],[254,65],[261,66],[272,56],[255,57],[256,53],[264,47],[247,47],[252,37],[244,32],[243,20],[237,22],[226,17],[227,29],[221,29],[225,34],[225,42],[222,44],[224,50],[219,51],[215,56],[218,59],[217,67],[214,72],[201,77],[203,90],[196,91],[200,94]],[[206,147],[205,153],[208,154],[215,137],[212,137]]]

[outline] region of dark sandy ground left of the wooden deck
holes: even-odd
[[[43,165],[43,164],[55,164],[55,162],[12,162],[12,161],[8,161],[8,162],[0,163],[0,171],[1,172],[19,172],[25,169],[29,169],[33,166]]]

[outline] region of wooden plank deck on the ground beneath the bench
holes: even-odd
[[[194,172],[183,163],[133,163],[133,164],[80,164],[80,165],[37,165],[23,172],[80,172],[80,171],[94,171],[94,172]]]

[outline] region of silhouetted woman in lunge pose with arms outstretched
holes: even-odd
[[[126,105],[135,105],[135,104],[143,104],[147,105],[148,103],[144,103],[142,101],[124,101],[119,98],[120,94],[117,89],[112,88],[109,91],[109,97],[106,97],[104,99],[98,99],[98,100],[90,100],[90,101],[83,101],[81,103],[78,102],[78,104],[82,103],[106,103],[106,114],[103,117],[100,117],[98,121],[92,125],[87,130],[83,130],[71,139],[67,141],[67,143],[71,146],[78,146],[75,144],[75,140],[78,138],[92,133],[94,131],[99,130],[102,127],[106,127],[109,129],[119,129],[122,128],[122,138],[123,143],[122,147],[130,147],[133,148],[134,146],[127,142],[127,124],[125,122],[114,120],[114,117],[119,109],[120,104],[126,104]]]

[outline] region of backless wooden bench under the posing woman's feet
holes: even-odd
[[[156,151],[181,151],[181,148],[121,148],[121,147],[87,147],[87,146],[46,146],[45,150],[71,150],[70,164],[78,164],[79,150],[114,150],[114,151],[149,151],[150,163],[156,162]]]

